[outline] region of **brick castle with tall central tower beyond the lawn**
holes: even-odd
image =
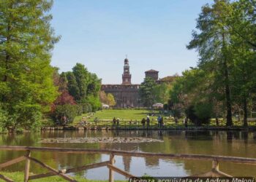
[[[164,79],[158,78],[159,71],[148,70],[145,71],[146,77],[151,77],[158,84],[162,82],[168,82],[167,78],[173,76],[167,76]],[[102,84],[101,90],[106,94],[111,93],[116,100],[116,108],[138,108],[143,106],[140,102],[139,95],[140,84],[132,84],[132,74],[129,72],[129,60],[124,59],[124,73],[122,74],[121,84]]]

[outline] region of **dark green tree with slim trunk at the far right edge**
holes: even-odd
[[[249,44],[240,36],[232,36],[233,42],[233,60],[234,65],[231,70],[232,85],[233,85],[233,98],[236,99],[236,105],[242,108],[244,111],[244,126],[247,123],[247,111],[249,103],[252,103],[252,99],[255,96],[255,84],[256,84],[256,54],[251,49]],[[238,112],[239,109],[238,108]],[[238,113],[239,114],[239,113]]]

